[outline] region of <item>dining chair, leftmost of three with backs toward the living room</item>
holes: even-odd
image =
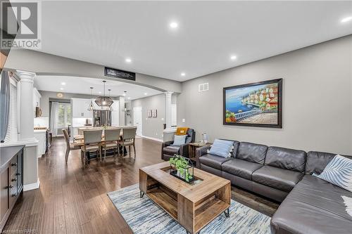
[[[87,152],[96,152],[100,155],[101,161],[101,134],[103,130],[85,130],[83,131],[84,145],[81,147],[82,157],[84,155],[84,164],[87,162]],[[82,160],[83,160],[82,159]]]

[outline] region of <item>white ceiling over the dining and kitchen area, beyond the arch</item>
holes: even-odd
[[[62,85],[61,83],[65,83]],[[34,79],[34,86],[38,90],[53,91],[61,93],[79,93],[90,94],[90,87],[93,87],[93,95],[103,95],[103,82],[101,79],[86,78],[86,77],[58,77],[58,76],[37,76]],[[63,88],[63,90],[61,90]],[[127,91],[126,100],[134,100],[137,98],[145,98],[160,94],[161,91],[149,89],[137,84],[129,84],[106,80],[106,96],[108,89],[111,89],[111,96],[122,96],[124,91]],[[99,93],[101,92],[101,93]],[[129,99],[130,98],[130,99]]]

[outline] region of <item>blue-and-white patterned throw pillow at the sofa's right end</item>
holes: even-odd
[[[352,192],[352,160],[347,157],[336,155],[320,175],[313,176]]]

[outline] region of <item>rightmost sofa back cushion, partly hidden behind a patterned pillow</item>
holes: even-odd
[[[336,156],[330,152],[317,152],[310,151],[307,155],[307,164],[306,164],[306,174],[320,174],[325,169],[327,164]],[[342,155],[352,159],[352,156]]]

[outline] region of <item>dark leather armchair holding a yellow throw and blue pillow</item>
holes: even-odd
[[[186,142],[180,146],[172,145],[174,141],[166,141],[161,146],[161,159],[168,161],[173,155],[181,155],[183,157],[189,157],[188,147],[189,143],[194,143],[196,138],[196,131],[194,129],[188,129]]]

